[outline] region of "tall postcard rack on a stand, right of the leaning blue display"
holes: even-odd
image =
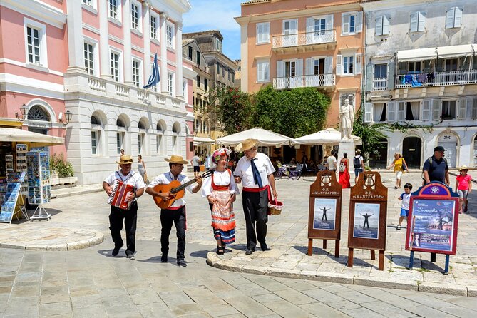
[[[46,212],[43,204],[50,202],[50,156],[48,153],[29,151],[26,153],[29,180],[29,203],[38,205],[30,220],[49,220],[51,215]]]

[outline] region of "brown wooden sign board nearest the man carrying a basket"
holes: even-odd
[[[334,240],[334,257],[339,257],[342,220],[342,185],[334,171],[323,170],[309,186],[308,255],[312,255],[313,239]]]

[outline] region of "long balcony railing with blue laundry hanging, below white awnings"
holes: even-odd
[[[396,76],[396,88],[477,84],[477,70]]]

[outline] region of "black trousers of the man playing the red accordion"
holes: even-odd
[[[121,230],[123,222],[126,230],[126,252],[135,252],[135,229],[138,221],[138,202],[133,202],[129,210],[122,210],[119,207],[111,205],[109,215],[109,230],[113,238],[114,247],[123,246]]]

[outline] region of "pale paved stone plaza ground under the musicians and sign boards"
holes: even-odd
[[[416,184],[419,178],[420,173],[410,173],[404,176],[404,181]],[[111,257],[113,244],[108,232],[109,207],[105,193],[53,199],[46,205],[53,215],[50,221],[0,224],[0,244],[4,247],[0,249],[0,314],[4,317],[476,317],[476,299],[466,296],[472,295],[477,285],[477,214],[472,212],[477,208],[475,196],[469,206],[471,213],[461,215],[459,220],[458,255],[451,256],[448,276],[441,274],[442,255],[438,255],[434,264],[429,262],[429,254],[416,252],[415,269],[404,269],[409,252],[404,251],[405,230],[395,228],[399,208],[395,197],[401,191],[394,188],[389,189],[385,270],[378,271],[377,260],[371,261],[369,251],[360,250],[355,251],[354,267],[350,269],[346,267],[347,208],[343,211],[342,257],[335,259],[332,248],[322,250],[319,240],[314,243],[314,255],[306,255],[312,179],[277,182],[285,209],[282,215],[270,217],[267,235],[270,250],[250,256],[245,255],[240,196],[237,242],[219,259],[214,252],[207,202],[200,195],[188,194],[189,267],[186,269],[176,266],[173,257],[167,264],[160,262],[158,208],[148,195],[139,201],[135,260],[126,259],[124,250],[118,257]],[[394,185],[390,173],[383,173],[383,180],[386,186]],[[79,191],[78,188],[69,193]],[[349,205],[347,195],[349,190],[344,192],[343,207]],[[171,233],[171,242],[174,240],[175,234]],[[328,247],[333,246],[329,242]],[[170,256],[174,256],[174,250],[175,245],[171,246]],[[242,272],[210,267],[206,258],[219,267]],[[267,275],[247,273],[261,271]]]

